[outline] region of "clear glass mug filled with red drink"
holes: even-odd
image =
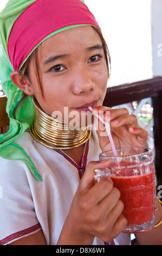
[[[95,183],[109,176],[120,191],[124,203],[122,214],[127,219],[124,233],[139,233],[154,227],[155,171],[153,153],[149,148],[124,148],[100,154],[99,159],[109,160],[105,169],[96,169]]]

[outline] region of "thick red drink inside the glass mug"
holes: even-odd
[[[113,168],[113,164],[109,167]],[[122,214],[128,221],[127,225],[142,225],[152,222],[155,207],[153,163],[145,167],[140,163],[130,164],[130,162],[121,161],[120,167],[115,168],[113,172],[115,176],[111,176],[111,179],[114,187],[118,188],[121,193],[120,200],[124,203]],[[141,168],[145,168],[145,170],[142,169],[141,172]],[[132,173],[134,170],[137,172],[136,175]]]

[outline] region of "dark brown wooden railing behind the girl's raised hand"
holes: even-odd
[[[108,88],[103,105],[113,107],[147,97],[152,98],[153,106],[155,172],[158,186],[162,185],[162,77]]]

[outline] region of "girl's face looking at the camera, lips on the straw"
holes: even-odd
[[[45,112],[52,115],[64,107],[68,111],[88,111],[101,106],[105,97],[108,70],[101,39],[90,26],[57,33],[38,47],[42,94],[29,64],[29,81],[33,93]],[[42,96],[43,95],[43,96]]]

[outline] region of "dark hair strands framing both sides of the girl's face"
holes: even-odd
[[[92,27],[96,31],[96,33],[98,33],[98,35],[100,36],[100,39],[102,41],[103,51],[104,51],[104,54],[105,54],[105,59],[106,59],[106,64],[107,64],[107,69],[108,69],[108,79],[109,79],[109,77],[111,75],[111,57],[110,57],[110,54],[109,54],[109,50],[108,50],[106,41],[103,38],[103,35],[102,35],[101,31],[98,28],[94,27],[94,26],[92,26]],[[31,53],[30,57],[23,64],[19,73],[22,77],[24,77],[24,76],[28,77],[29,76],[29,72],[28,72],[29,63],[30,63],[31,59],[33,59],[34,67],[35,67],[35,75],[36,75],[36,78],[37,78],[37,82],[38,82],[40,92],[43,96],[42,86],[41,86],[41,78],[40,78],[40,72],[39,72],[39,64],[38,64],[38,60],[37,60],[37,52],[38,52],[38,48],[36,48],[34,50],[34,52]]]

